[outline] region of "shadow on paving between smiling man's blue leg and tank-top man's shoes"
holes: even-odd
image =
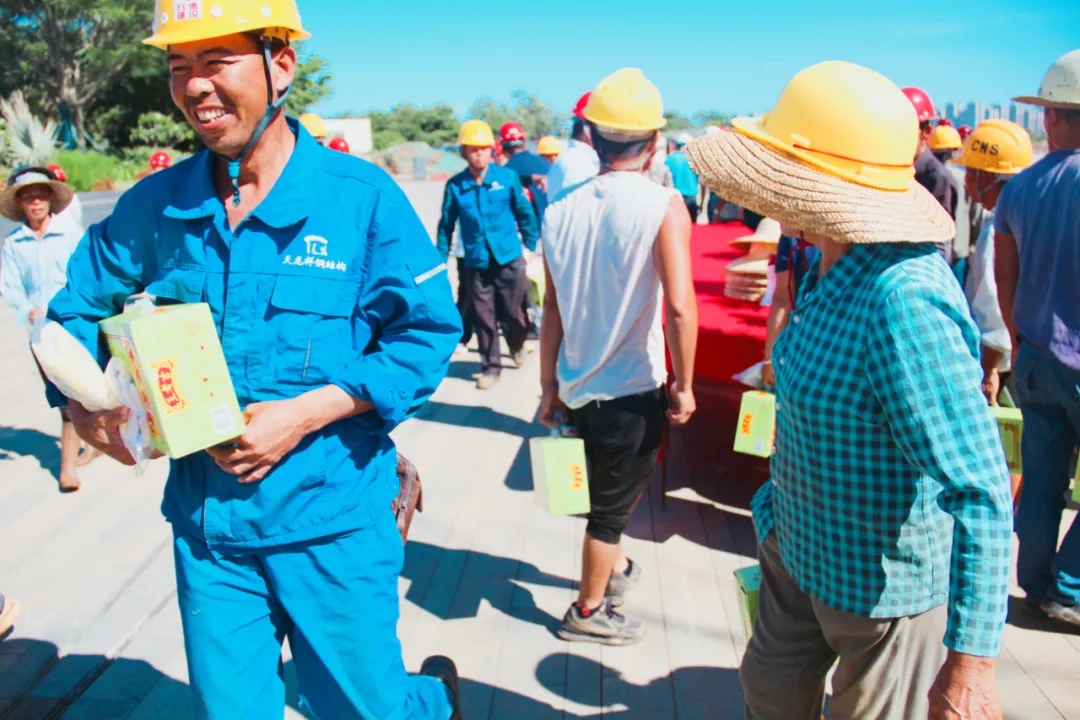
[[[402,576],[410,581],[405,599],[441,620],[475,617],[481,601],[486,601],[511,617],[552,633],[562,619],[538,608],[532,593],[523,583],[563,588],[577,586],[571,580],[551,575],[514,558],[445,549],[416,541],[405,546]]]

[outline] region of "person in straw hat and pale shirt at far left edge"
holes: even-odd
[[[0,295],[11,303],[25,326],[43,322],[45,308],[66,282],[67,262],[82,236],[73,222],[57,215],[71,203],[73,193],[44,167],[21,167],[0,191],[0,215],[21,223],[8,235],[0,258]],[[93,459],[79,457],[80,440],[62,409],[60,490],[79,489],[76,467]],[[96,453],[95,453],[96,454]]]

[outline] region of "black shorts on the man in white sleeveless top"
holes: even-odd
[[[570,410],[589,461],[592,510],[585,532],[591,538],[613,545],[622,536],[657,467],[666,411],[662,388]]]

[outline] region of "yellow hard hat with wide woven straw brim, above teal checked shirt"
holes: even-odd
[[[796,74],[771,112],[687,146],[716,194],[840,243],[940,243],[956,225],[915,180],[919,122],[888,78],[825,62]]]

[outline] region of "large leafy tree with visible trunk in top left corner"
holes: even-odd
[[[141,50],[152,14],[153,0],[0,0],[22,71],[45,90],[46,109],[70,113],[80,147],[87,109]]]

